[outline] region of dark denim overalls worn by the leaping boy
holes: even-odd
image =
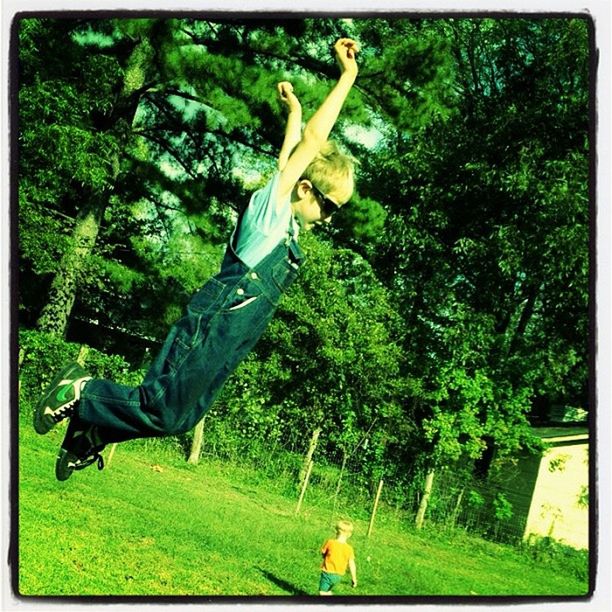
[[[235,244],[230,240],[219,274],[172,326],[139,387],[94,379],[83,388],[78,416],[98,426],[104,443],[192,429],[263,334],[304,255],[288,232],[249,268]]]

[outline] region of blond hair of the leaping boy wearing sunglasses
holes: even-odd
[[[340,204],[348,202],[355,189],[356,160],[343,153],[340,147],[328,140],[308,164],[302,178],[312,183],[324,194],[333,194]]]

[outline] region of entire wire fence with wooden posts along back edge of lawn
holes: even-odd
[[[48,384],[48,375],[45,378],[41,373],[53,371],[58,362],[64,362],[68,357],[77,357],[75,351],[79,347],[34,332],[22,336],[20,409],[28,412],[41,389]],[[88,363],[96,365],[99,376],[123,376],[125,384],[133,384],[137,378],[137,373],[128,372],[122,360],[94,350],[89,351]],[[223,418],[214,412],[205,417],[198,456],[250,468],[257,478],[265,479],[266,486],[294,497],[296,507],[301,496],[301,512],[316,506],[329,514],[330,523],[339,516],[369,520],[380,490],[378,523],[389,520],[412,527],[423,514],[426,526],[463,529],[493,540],[520,542],[525,535],[533,491],[524,474],[506,473],[505,479],[477,478],[466,475],[468,470],[447,467],[436,471],[431,494],[426,496],[426,474],[414,466],[395,465],[393,472],[390,467],[371,469],[363,448],[359,452],[338,453],[337,445],[334,450],[334,445],[325,441],[325,436],[321,436],[309,456],[306,428],[299,431],[300,428],[287,427],[286,433],[282,428],[276,428],[275,431],[281,433],[271,436],[259,434],[252,424],[253,428],[241,432],[240,425],[231,415]],[[144,448],[163,448],[174,456],[183,455],[187,459],[192,437],[189,434],[135,442]],[[309,467],[310,473],[304,483]],[[588,506],[588,492],[584,497]],[[554,508],[550,512],[555,512]]]

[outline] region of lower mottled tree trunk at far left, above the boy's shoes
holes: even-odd
[[[42,331],[65,336],[78,284],[98,237],[103,209],[103,205],[94,203],[85,205],[79,211],[72,233],[71,247],[62,258],[51,284],[49,301],[37,322]]]

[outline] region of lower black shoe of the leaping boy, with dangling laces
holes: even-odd
[[[96,462],[101,470],[104,459],[100,451],[104,447],[105,444],[96,435],[95,425],[85,425],[78,417],[71,418],[55,461],[55,477],[68,480],[75,470],[82,470]]]

